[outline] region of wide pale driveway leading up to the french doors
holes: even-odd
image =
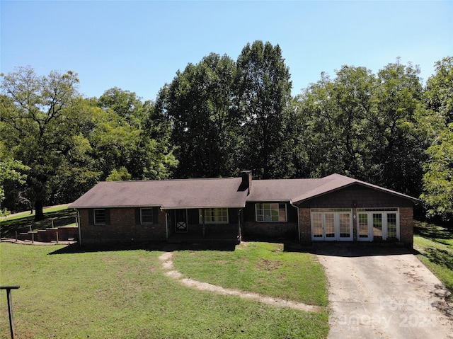
[[[449,292],[411,252],[369,243],[315,248],[329,283],[329,339],[453,338]]]

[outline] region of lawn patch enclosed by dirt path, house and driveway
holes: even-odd
[[[241,243],[236,251],[180,251],[176,269],[195,280],[326,306],[323,267],[310,253],[284,252],[281,243]]]

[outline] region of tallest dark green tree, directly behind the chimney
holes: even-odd
[[[288,159],[293,145],[286,133],[292,82],[282,50],[257,40],[243,48],[236,64],[236,110],[243,136],[239,165],[258,178],[292,176]]]

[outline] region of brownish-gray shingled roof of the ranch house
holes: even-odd
[[[239,190],[241,178],[101,182],[69,207],[240,208],[246,201],[302,202],[353,184],[419,201],[377,185],[332,174],[320,179],[252,180],[248,196],[247,190]]]

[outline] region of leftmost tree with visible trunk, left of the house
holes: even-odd
[[[79,79],[72,71],[38,76],[31,67],[1,74],[1,91],[12,105],[2,105],[1,141],[13,159],[30,167],[27,185],[33,197],[35,219],[43,219],[43,203],[52,191],[51,178],[71,149],[74,132],[71,108],[79,96]]]

